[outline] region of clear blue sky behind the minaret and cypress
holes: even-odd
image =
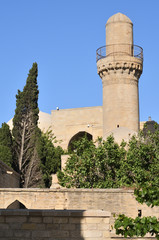
[[[131,19],[134,44],[144,49],[140,120],[159,122],[158,0],[0,0],[0,124],[14,116],[15,95],[35,61],[41,111],[102,105],[96,49],[117,12]]]

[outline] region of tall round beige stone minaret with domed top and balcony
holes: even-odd
[[[106,23],[106,46],[97,50],[97,69],[103,83],[103,137],[117,141],[139,130],[138,81],[143,51],[133,45],[133,24],[117,13]]]

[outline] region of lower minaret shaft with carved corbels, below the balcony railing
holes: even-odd
[[[128,129],[128,134],[138,132],[138,80],[142,60],[131,56],[109,56],[99,60],[97,68],[103,83],[103,136],[121,127]]]

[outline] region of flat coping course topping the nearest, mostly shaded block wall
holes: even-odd
[[[0,216],[110,217],[111,213],[103,210],[1,209]]]

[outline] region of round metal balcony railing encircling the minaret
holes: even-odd
[[[108,56],[132,56],[143,60],[143,49],[131,44],[112,44],[103,46],[96,51],[96,61]]]

